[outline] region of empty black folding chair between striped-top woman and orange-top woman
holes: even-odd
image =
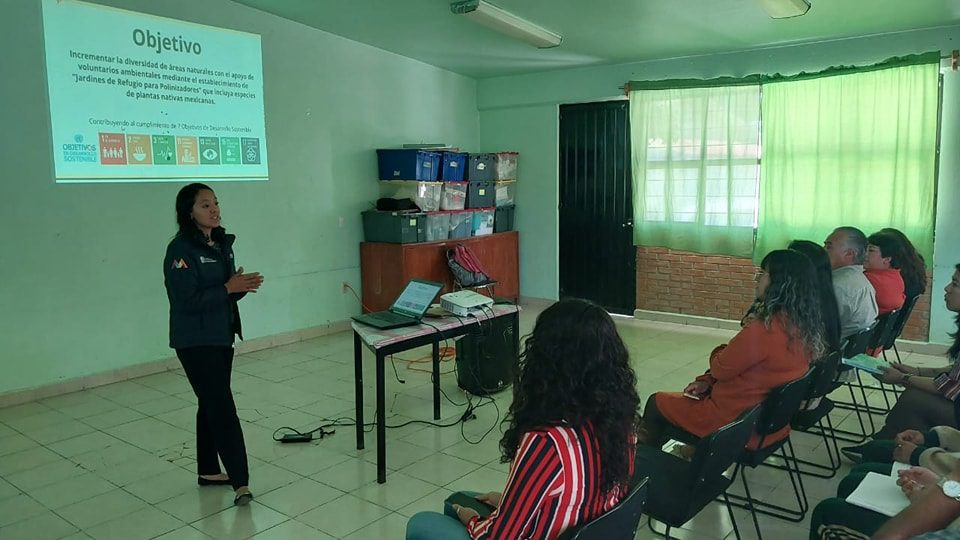
[[[670,538],[671,528],[682,526],[711,501],[722,497],[733,523],[733,532],[740,538],[726,492],[736,478],[737,460],[753,434],[759,410],[759,406],[753,407],[714,433],[697,439],[694,443],[696,452],[690,461],[660,448],[637,447],[635,474],[648,477],[644,513],[651,520],[648,521],[651,531]],[[666,532],[654,529],[652,520],[664,523]]]

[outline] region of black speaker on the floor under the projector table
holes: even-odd
[[[457,341],[457,386],[486,396],[513,384],[518,337],[511,317],[497,317]]]

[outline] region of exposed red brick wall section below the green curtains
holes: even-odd
[[[753,302],[758,268],[750,259],[637,247],[637,309],[740,320]],[[903,337],[927,341],[930,291]]]

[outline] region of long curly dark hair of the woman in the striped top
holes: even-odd
[[[599,446],[601,487],[609,492],[629,480],[639,405],[636,375],[613,319],[586,300],[561,300],[537,317],[524,344],[500,440],[502,459],[516,457],[529,431],[589,424]]]

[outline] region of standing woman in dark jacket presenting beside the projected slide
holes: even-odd
[[[177,193],[176,211],[178,231],[167,246],[163,276],[170,300],[170,347],[197,395],[197,483],[233,486],[234,504],[243,506],[253,494],[230,371],[234,336],[243,339],[237,301],[256,292],[263,277],[235,269],[236,237],[220,226],[212,189],[185,186]]]

